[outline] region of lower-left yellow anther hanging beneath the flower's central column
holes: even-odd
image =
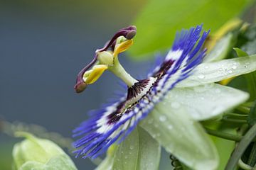
[[[107,66],[104,64],[98,64],[92,67],[92,69],[89,71],[89,74],[86,72],[84,74],[85,84],[93,84],[95,81],[97,81],[97,79],[100,78],[106,69]]]

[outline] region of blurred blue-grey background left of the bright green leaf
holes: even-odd
[[[84,93],[75,94],[76,75],[115,31],[132,23],[145,3],[1,0],[0,118],[71,137],[87,111],[99,108],[119,89],[118,80],[105,73]],[[119,58],[135,77],[149,68],[148,63]],[[20,140],[0,133],[1,170],[11,169],[11,150]],[[78,169],[95,167],[89,159],[74,162]]]

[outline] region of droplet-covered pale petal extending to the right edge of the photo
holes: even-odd
[[[214,83],[230,77],[254,72],[255,70],[256,55],[203,63],[196,67],[195,72],[190,77],[181,81],[176,86],[188,87]],[[176,79],[176,77],[171,77],[171,79]]]

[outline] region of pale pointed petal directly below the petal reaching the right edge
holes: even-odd
[[[174,88],[163,102],[178,105],[189,111],[194,120],[207,120],[238,106],[249,98],[243,91],[219,84],[206,84],[189,88]],[[176,108],[169,108],[170,112]]]

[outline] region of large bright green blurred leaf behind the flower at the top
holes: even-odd
[[[149,53],[171,47],[177,30],[201,23],[206,30],[210,29],[214,33],[225,22],[238,16],[250,2],[252,1],[151,0],[134,21],[138,33],[129,52],[134,59],[145,59]]]

